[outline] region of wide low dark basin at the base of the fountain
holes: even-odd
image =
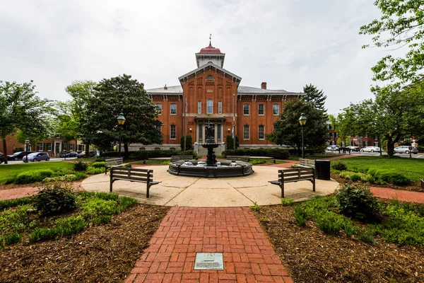
[[[254,173],[252,164],[243,161],[220,161],[218,166],[197,166],[202,161],[196,160],[189,161],[193,163],[193,166],[183,166],[184,162],[186,161],[170,163],[168,173],[199,178],[243,177]],[[230,166],[231,163],[236,163],[236,166]]]

